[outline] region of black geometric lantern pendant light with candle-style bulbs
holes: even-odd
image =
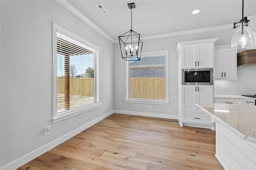
[[[131,30],[118,36],[121,54],[126,61],[140,60],[143,44],[142,37],[132,30],[132,9],[135,8],[135,4],[130,3],[128,7],[131,9]]]

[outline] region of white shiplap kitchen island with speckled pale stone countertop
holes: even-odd
[[[196,104],[216,125],[216,158],[227,170],[256,170],[256,106]]]

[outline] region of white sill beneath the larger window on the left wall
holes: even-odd
[[[93,104],[93,105],[90,105],[90,106],[86,106],[84,108],[78,108],[78,109],[74,109],[74,110],[71,110],[71,111],[64,112],[64,113],[60,114],[59,116],[57,116],[56,118],[53,118],[52,123],[56,123],[56,122],[62,121],[64,119],[68,119],[70,117],[79,115],[81,113],[85,113],[85,112],[90,111],[92,109],[96,109],[96,108],[100,107],[101,104],[102,103],[96,103],[96,104]]]

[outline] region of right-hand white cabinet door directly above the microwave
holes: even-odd
[[[213,50],[213,43],[197,44],[197,67],[213,67]]]

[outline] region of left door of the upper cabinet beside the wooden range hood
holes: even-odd
[[[223,77],[223,49],[214,51],[214,78]]]

